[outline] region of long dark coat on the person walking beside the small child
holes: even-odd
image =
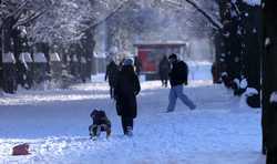
[[[133,119],[136,117],[136,95],[140,91],[140,81],[133,66],[122,66],[114,88],[116,112],[119,115]]]

